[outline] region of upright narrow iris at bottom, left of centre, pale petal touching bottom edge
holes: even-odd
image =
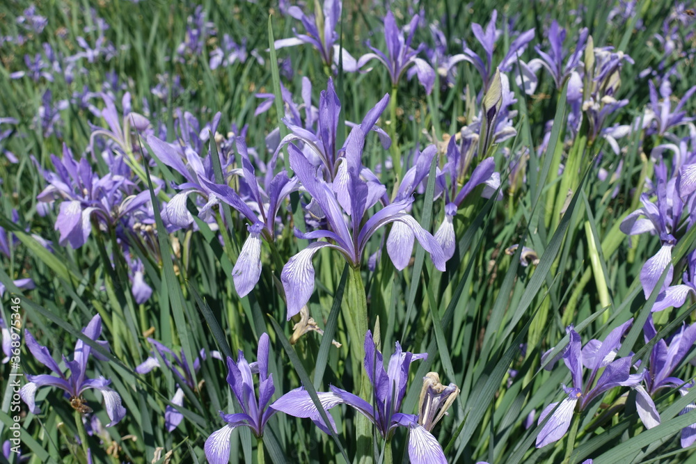
[[[205,457],[211,464],[226,464],[230,461],[230,435],[237,427],[246,426],[257,437],[263,435],[264,426],[276,410],[269,406],[271,397],[276,392],[273,374],[268,373],[269,337],[263,333],[259,338],[256,362],[247,362],[244,353],[239,350],[237,362],[228,356],[229,373],[227,383],[235,394],[242,413],[226,414],[220,411],[220,417],[227,424],[213,432],[205,440]],[[256,397],[252,374],[259,374],[258,398]]]

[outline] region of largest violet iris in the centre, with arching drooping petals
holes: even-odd
[[[312,196],[315,216],[321,214],[326,218],[329,229],[319,229],[301,234],[305,239],[329,239],[315,241],[307,248],[290,258],[283,266],[280,280],[287,299],[287,319],[297,314],[309,301],[314,290],[314,267],[312,257],[321,248],[337,250],[354,268],[359,268],[367,241],[379,227],[399,221],[411,228],[421,246],[430,253],[433,263],[440,271],[445,270],[442,248],[434,237],[423,229],[418,221],[403,211],[411,205],[413,197],[393,202],[377,211],[367,221],[363,216],[386,191],[379,182],[367,182],[361,178],[361,157],[365,135],[361,126],[355,127],[349,134],[346,147],[345,175],[339,175],[333,181],[333,188],[321,176],[314,166],[294,145],[288,145],[290,166],[299,178],[304,189]],[[346,222],[344,213],[349,216]],[[404,250],[405,251],[405,250]],[[409,256],[411,250],[408,250]]]

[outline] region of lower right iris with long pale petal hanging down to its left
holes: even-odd
[[[592,339],[585,346],[582,346],[580,335],[573,326],[566,329],[570,336],[570,342],[557,358],[562,357],[566,367],[571,371],[573,386],[569,388],[563,385],[563,390],[568,396],[560,402],[560,405],[558,402],[551,403],[541,411],[538,424],[541,424],[553,408],[558,405],[558,408],[537,435],[537,448],[545,447],[563,438],[576,410],[578,412],[585,410],[602,393],[619,386],[635,387],[642,381],[643,374],[631,374],[631,356],[615,359],[617,349],[621,345],[621,337],[631,327],[631,323],[633,323],[633,318],[612,330],[603,342]],[[549,351],[545,353],[545,356],[548,353]],[[542,360],[544,360],[544,356],[542,356]],[[551,367],[553,367],[553,363],[549,364],[546,369]],[[585,369],[592,369],[592,371],[590,371],[587,381],[583,382]],[[597,378],[601,369],[603,371]]]

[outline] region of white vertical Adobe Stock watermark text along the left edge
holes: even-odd
[[[18,296],[14,296],[10,299],[10,320],[6,322],[6,330],[8,333],[3,335],[8,336],[10,339],[10,352],[9,362],[10,362],[10,373],[7,379],[8,389],[11,390],[12,395],[10,397],[10,408],[9,416],[12,419],[12,424],[10,425],[9,442],[10,442],[10,453],[20,454],[21,453],[21,426],[19,425],[19,419],[21,419],[21,401],[19,397],[19,389],[22,387],[22,383],[19,381],[20,378],[24,377],[21,371],[22,363],[20,358],[20,347],[22,345],[22,300]],[[3,330],[4,331],[4,330]]]

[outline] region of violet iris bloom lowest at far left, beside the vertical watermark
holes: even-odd
[[[93,339],[95,342],[100,344],[105,349],[108,349],[106,342],[102,340],[97,340],[97,338],[102,333],[102,319],[99,314],[89,321],[87,326],[82,329],[82,333],[89,339]],[[106,414],[109,415],[111,422],[106,424],[107,427],[117,424],[120,419],[122,419],[126,410],[121,406],[121,397],[117,392],[109,388],[109,383],[111,381],[106,380],[104,377],[100,378],[87,378],[87,361],[90,355],[94,355],[97,360],[105,361],[104,358],[99,353],[92,353],[92,348],[84,344],[82,340],[78,339],[75,344],[75,351],[72,361],[68,361],[65,356],[63,356],[63,362],[68,369],[70,369],[70,377],[66,377],[63,371],[58,367],[58,363],[51,357],[48,349],[45,346],[41,346],[36,342],[33,335],[29,333],[29,330],[24,330],[24,342],[27,348],[33,355],[33,357],[53,371],[56,375],[40,374],[38,376],[32,376],[27,374],[26,378],[29,383],[26,383],[20,390],[19,396],[22,397],[26,406],[29,406],[29,410],[34,413],[40,413],[39,408],[35,404],[35,394],[36,390],[40,387],[58,387],[63,390],[67,397],[70,399],[70,404],[75,410],[79,410],[82,413],[88,413],[91,409],[88,408],[86,401],[82,397],[82,393],[85,390],[93,388],[99,390],[104,397],[104,404],[106,406]]]

